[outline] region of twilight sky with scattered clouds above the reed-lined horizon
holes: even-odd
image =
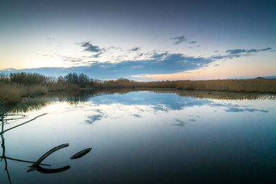
[[[275,1],[3,1],[0,72],[276,76]]]

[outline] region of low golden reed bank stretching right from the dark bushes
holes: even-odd
[[[228,79],[206,81],[136,82],[128,79],[105,81],[97,88],[177,88],[181,90],[217,90],[227,92],[276,92],[276,79]]]

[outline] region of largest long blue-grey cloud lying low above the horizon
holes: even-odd
[[[74,62],[81,62],[68,58]],[[168,52],[155,53],[150,59],[121,61],[119,63],[83,61],[85,65],[70,68],[33,68],[20,71],[39,72],[49,76],[59,76],[68,72],[83,72],[94,79],[116,79],[138,74],[170,74],[196,70],[213,62],[212,59],[204,57],[188,57],[184,54],[168,54]],[[19,71],[19,70],[14,70]]]

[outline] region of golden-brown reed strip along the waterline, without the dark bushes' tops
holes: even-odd
[[[276,94],[276,79],[226,79],[206,81],[154,81],[137,82],[128,79],[115,81],[91,82],[86,87],[72,83],[39,83],[23,85],[22,83],[0,83],[0,105],[20,103],[22,97],[46,94],[48,92],[65,92],[77,90],[117,90],[117,89],[175,89],[189,91],[243,92]]]

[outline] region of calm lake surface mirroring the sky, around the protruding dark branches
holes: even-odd
[[[275,96],[68,92],[25,99],[6,115],[3,130],[39,117],[1,134],[0,183],[8,174],[12,183],[276,181]],[[42,162],[51,166],[27,172],[32,163],[22,161],[63,143]]]

